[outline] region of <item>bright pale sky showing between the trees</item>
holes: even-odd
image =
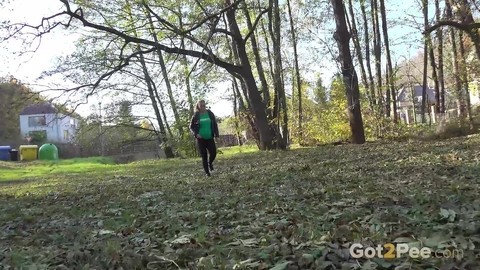
[[[28,21],[38,24],[43,16],[54,14],[61,8],[58,0],[14,0],[11,2],[8,9],[0,9],[0,20],[11,19],[12,21]],[[388,0],[386,2],[389,10],[388,19],[401,22],[389,29],[391,49],[395,52],[392,56],[395,63],[413,57],[420,49],[420,47],[412,47],[410,44],[412,39],[421,38],[420,34],[406,23],[411,20],[413,15],[418,15],[419,11],[414,8],[405,8],[417,6],[417,0]],[[42,88],[42,85],[48,82],[35,79],[41,75],[42,71],[49,68],[56,57],[68,55],[75,49],[74,39],[66,38],[64,33],[64,31],[49,33],[42,39],[40,47],[34,54],[23,56],[16,53],[22,48],[21,42],[18,40],[0,43],[0,76],[13,75],[23,83],[31,84],[34,90]],[[331,38],[331,33],[326,35],[326,38]],[[303,55],[303,57],[305,56]],[[323,80],[328,82],[336,72],[336,66],[334,63],[327,63],[317,71],[323,75]],[[209,95],[209,105],[212,111],[221,117],[231,115],[233,112],[231,102],[226,100],[225,87],[229,87],[229,85],[219,85],[217,91]],[[84,116],[88,115],[91,112],[91,105],[80,106],[78,112]]]

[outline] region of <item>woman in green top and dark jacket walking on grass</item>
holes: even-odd
[[[218,138],[218,125],[215,115],[206,108],[204,100],[199,100],[195,106],[195,113],[190,121],[190,131],[195,136],[198,151],[202,156],[205,174],[210,176],[210,172],[213,171],[212,163],[217,156],[217,146],[213,138]]]

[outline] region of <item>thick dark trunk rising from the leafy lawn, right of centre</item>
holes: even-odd
[[[345,7],[342,0],[331,0],[335,16],[336,32],[335,40],[339,50],[339,58],[342,64],[342,75],[348,101],[348,113],[352,141],[356,144],[365,143],[362,112],[360,109],[360,92],[358,89],[358,78],[353,66],[350,54],[350,33],[345,21]]]

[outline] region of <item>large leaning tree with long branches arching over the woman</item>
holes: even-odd
[[[241,79],[245,83],[248,91],[247,98],[250,100],[253,113],[252,116],[259,133],[260,148],[262,150],[272,149],[276,145],[275,142],[282,138],[276,138],[277,134],[272,133],[272,126],[267,118],[267,108],[255,82],[252,65],[246,49],[246,42],[251,37],[251,31],[244,34],[237,23],[236,16],[241,2],[241,0],[225,0],[222,5],[210,5],[208,9],[204,9],[208,12],[198,12],[197,9],[201,4],[197,1],[195,2],[196,8],[189,9],[191,12],[195,12],[195,14],[189,16],[189,18],[193,19],[188,23],[184,22],[183,25],[188,26],[183,29],[179,28],[178,22],[167,21],[167,19],[165,19],[170,18],[168,16],[170,14],[162,14],[163,12],[168,12],[168,7],[159,5],[157,1],[132,2],[132,5],[135,5],[138,10],[141,10],[142,7],[148,10],[150,17],[155,19],[155,30],[157,31],[157,35],[155,36],[159,39],[162,38],[162,42],[159,39],[156,40],[151,35],[144,34],[141,37],[134,37],[130,34],[133,28],[141,28],[142,25],[148,25],[148,22],[146,21],[147,18],[142,17],[143,15],[141,13],[138,13],[137,15],[138,20],[143,22],[142,25],[118,24],[112,18],[121,18],[123,14],[110,9],[109,6],[107,6],[109,4],[104,1],[97,0],[87,2],[78,1],[75,6],[69,1],[61,0],[61,11],[53,15],[46,15],[46,19],[44,19],[40,25],[24,24],[23,27],[19,26],[17,29],[18,31],[15,31],[15,35],[25,33],[28,29],[33,31],[38,30],[38,32],[32,36],[40,37],[54,31],[56,28],[60,28],[60,26],[67,26],[67,29],[70,29],[73,25],[76,25],[77,27],[83,27],[86,30],[103,33],[118,42],[123,42],[123,44],[119,44],[116,51],[111,52],[110,55],[114,55],[116,59],[112,61],[109,70],[99,76],[99,79],[97,80],[98,83],[84,86],[93,89],[93,91],[95,91],[95,88],[99,83],[105,81],[112,74],[118,73],[120,70],[128,66],[129,62],[136,58],[139,53],[157,53],[159,58],[160,54],[158,52],[161,52],[162,56],[163,53],[187,55],[216,65]],[[168,4],[173,5],[181,3],[169,2]],[[258,18],[262,17],[263,14],[265,14],[265,10],[262,10],[262,12],[259,13]],[[228,23],[227,25],[222,25],[223,28],[221,28],[221,26],[217,28],[215,22],[217,21],[217,18],[220,18],[223,15],[226,16]],[[255,20],[255,22],[257,21],[258,20]],[[254,23],[254,25],[256,25],[256,23]],[[143,29],[144,27],[142,30]],[[219,35],[228,33],[227,37],[234,41],[235,49],[239,55],[240,65],[235,65],[224,60],[225,57],[222,55],[223,52],[219,50],[218,47],[213,46],[217,44],[212,45],[212,43],[209,43],[212,40],[211,38],[208,38],[210,36],[208,33],[210,32],[213,32],[218,39],[221,39]],[[182,36],[189,40],[191,49],[180,48],[178,42],[179,38]],[[130,52],[129,50],[126,50],[130,44],[141,44],[145,49],[141,52]],[[216,51],[214,52],[213,50]]]

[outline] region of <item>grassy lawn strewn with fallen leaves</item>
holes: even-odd
[[[0,163],[0,268],[480,269],[479,145]],[[456,258],[349,256],[393,242]]]

